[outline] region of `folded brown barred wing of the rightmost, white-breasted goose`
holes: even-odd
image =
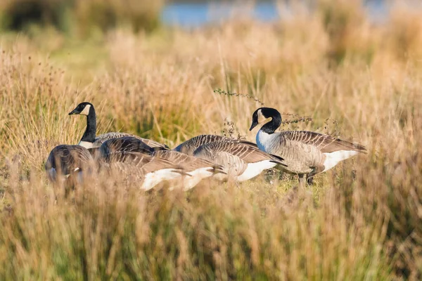
[[[330,153],[338,150],[353,150],[366,153],[366,148],[363,145],[351,143],[350,141],[343,141],[340,140],[340,138],[333,138],[332,136],[312,131],[285,131],[282,135],[283,138],[286,138],[289,141],[298,141],[307,145],[314,145],[323,153]]]

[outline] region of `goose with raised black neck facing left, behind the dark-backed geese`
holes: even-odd
[[[86,115],[87,116],[87,129],[85,130],[84,135],[79,141],[78,145],[82,145],[84,148],[98,148],[101,144],[107,140],[112,138],[120,138],[122,136],[132,136],[134,138],[139,138],[141,141],[146,143],[151,147],[161,147],[166,148],[166,145],[162,143],[158,143],[156,141],[148,140],[147,138],[141,138],[139,136],[134,136],[129,133],[119,133],[119,132],[112,132],[112,133],[103,133],[100,136],[96,136],[96,113],[94,109],[94,105],[91,103],[79,103],[77,107],[72,110],[69,115]]]

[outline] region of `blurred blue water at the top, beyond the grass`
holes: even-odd
[[[372,20],[383,20],[388,13],[384,0],[365,1],[366,10]],[[165,25],[176,25],[185,28],[195,28],[202,25],[219,23],[229,19],[234,14],[248,15],[264,22],[278,20],[288,15],[288,8],[280,7],[273,1],[257,2],[254,6],[239,6],[238,4],[217,3],[212,1],[200,3],[170,3],[161,13],[161,20]]]

